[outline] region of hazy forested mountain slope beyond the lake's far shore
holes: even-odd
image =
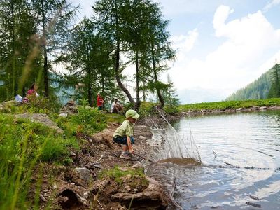
[[[266,73],[263,73],[257,80],[253,83],[248,84],[246,87],[237,90],[237,92],[231,94],[225,100],[235,101],[235,100],[246,100],[246,99],[267,99],[271,83],[269,80],[269,75],[272,69],[269,69]]]

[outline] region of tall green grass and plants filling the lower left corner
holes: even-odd
[[[76,139],[64,139],[40,123],[0,114],[0,209],[33,209],[27,194],[31,177],[40,171],[39,162],[63,162],[69,146],[78,148]]]

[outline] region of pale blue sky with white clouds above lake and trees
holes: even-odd
[[[94,1],[72,0],[80,18]],[[177,53],[167,73],[182,104],[221,101],[280,62],[280,0],[154,2],[170,21]]]

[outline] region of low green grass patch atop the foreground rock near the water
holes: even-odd
[[[121,186],[123,184],[123,177],[127,175],[131,175],[132,180],[134,178],[137,178],[137,182],[142,182],[141,184],[148,186],[148,180],[146,179],[143,168],[121,169],[120,167],[116,166],[113,169],[103,170],[99,174],[99,179],[103,179],[104,177],[108,176],[111,179],[115,180]],[[137,183],[135,184],[137,185]]]

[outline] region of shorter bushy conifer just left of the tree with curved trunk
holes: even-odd
[[[112,43],[98,33],[94,22],[84,18],[73,30],[66,49],[64,59],[69,63],[70,73],[73,73],[71,85],[84,84],[82,88],[90,105],[95,104],[97,92],[108,97],[107,100],[109,96],[116,95],[118,91],[110,56]]]

